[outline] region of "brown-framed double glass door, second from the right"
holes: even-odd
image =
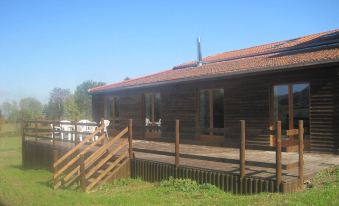
[[[224,90],[200,90],[199,103],[202,134],[222,135],[222,131],[216,129],[224,128]]]

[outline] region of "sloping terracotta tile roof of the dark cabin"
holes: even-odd
[[[105,92],[171,81],[209,78],[239,73],[288,69],[296,66],[339,62],[339,30],[313,34],[287,41],[224,52],[203,59],[196,67],[189,62],[152,75],[90,89]]]

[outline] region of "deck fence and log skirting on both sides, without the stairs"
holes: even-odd
[[[68,141],[62,140],[60,138],[59,131],[54,128],[41,128],[39,126],[47,127],[49,124],[57,125],[57,122],[51,121],[30,121],[23,122],[23,165],[33,165],[36,167],[43,162],[53,165],[54,161],[57,158],[53,151],[59,149],[56,147],[56,142]],[[131,124],[131,123],[130,123]],[[76,125],[74,122],[73,125]],[[80,125],[80,124],[77,124]],[[85,125],[85,124],[84,124]],[[246,160],[246,122],[244,120],[240,121],[240,147],[239,147],[239,158],[223,158],[223,157],[211,157],[211,156],[202,156],[196,154],[186,154],[180,152],[180,122],[175,120],[175,141],[174,141],[174,152],[168,151],[159,151],[153,149],[144,149],[144,148],[133,148],[132,147],[132,138],[129,139],[129,159],[130,161],[130,173],[132,177],[141,177],[146,181],[161,181],[170,176],[176,178],[190,178],[196,180],[199,183],[211,183],[224,191],[232,191],[236,194],[254,194],[258,192],[292,192],[298,190],[300,186],[303,185],[303,121],[299,121],[299,128],[286,131],[286,136],[288,137],[298,137],[298,161],[284,164],[282,162],[282,130],[281,122],[277,122],[276,131],[275,131],[275,163],[270,162],[260,162],[260,161],[250,161]],[[76,127],[75,127],[76,128]],[[131,128],[131,125],[129,125]],[[81,134],[78,131],[71,131],[71,134],[75,135],[74,143],[77,143],[77,137]],[[285,134],[284,134],[285,135]],[[129,130],[129,136],[132,137],[132,130]],[[27,138],[33,138],[33,141],[26,141]],[[48,139],[52,141],[53,144],[49,144],[48,147],[41,147],[37,144],[39,139]],[[74,145],[75,146],[75,145]],[[68,150],[60,151],[59,149],[59,158],[60,155],[67,153]],[[51,152],[52,151],[52,152]],[[133,155],[134,152],[150,153],[155,155],[165,155],[174,158],[174,164],[157,162],[152,160],[135,158]],[[42,155],[46,154],[46,155]],[[33,157],[31,157],[33,156]],[[40,161],[42,160],[43,161]],[[81,159],[81,157],[79,156]],[[84,158],[84,157],[83,157]],[[229,173],[226,171],[214,170],[213,168],[198,168],[190,167],[181,164],[181,158],[193,159],[193,160],[204,160],[211,162],[219,162],[224,164],[235,164],[239,166],[239,174]],[[46,164],[47,164],[46,163]],[[275,178],[260,178],[254,177],[246,174],[247,166],[255,166],[262,168],[275,169]],[[296,181],[286,182],[283,179],[283,170],[296,169],[298,167],[298,178]],[[80,167],[81,170],[81,167]],[[126,170],[127,171],[127,170]]]

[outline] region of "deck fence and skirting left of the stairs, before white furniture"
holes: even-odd
[[[62,131],[60,128],[67,125],[74,128],[71,131]],[[66,153],[71,147],[59,147],[57,144],[72,143],[73,146],[80,142],[80,137],[85,137],[91,132],[81,132],[79,127],[98,127],[97,123],[79,123],[49,121],[49,120],[22,120],[22,165],[24,168],[47,168],[52,170],[54,161],[53,151],[58,154]],[[71,137],[70,139],[68,137]],[[41,140],[52,144],[41,145]]]

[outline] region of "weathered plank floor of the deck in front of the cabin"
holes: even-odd
[[[42,148],[53,148],[51,140],[28,139],[26,141],[35,142]],[[117,143],[119,144],[119,143]],[[74,143],[56,141],[54,145],[59,151],[67,151],[74,147]],[[114,147],[115,145],[113,145]],[[133,140],[133,148],[136,159],[149,160],[167,164],[174,164],[174,156],[163,155],[174,153],[175,144],[148,140]],[[152,150],[158,154],[151,154]],[[185,158],[194,155],[202,156],[202,159]],[[239,149],[202,146],[193,144],[180,144],[180,166],[194,167],[207,170],[222,171],[230,174],[239,174]],[[219,160],[219,161],[209,161]],[[288,165],[298,161],[298,154],[293,152],[282,153],[283,181],[292,182],[297,180],[298,168],[289,169]],[[269,165],[275,164],[274,151],[246,150],[246,176],[257,177],[261,179],[274,179],[275,169]],[[332,154],[305,153],[304,154],[304,176],[305,179],[312,177],[315,173],[339,165],[339,156]]]

